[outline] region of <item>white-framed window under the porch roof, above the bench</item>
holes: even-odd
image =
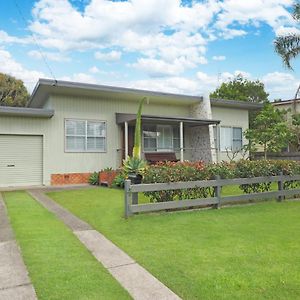
[[[180,148],[179,126],[144,125],[144,151],[176,151]]]

